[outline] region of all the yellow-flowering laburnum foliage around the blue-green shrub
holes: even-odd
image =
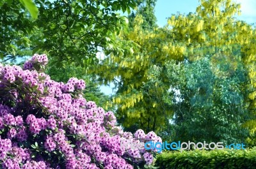
[[[146,20],[143,15],[136,15],[132,20],[136,24],[131,24],[129,32],[120,34],[119,38],[131,41],[137,47],[134,45],[124,57],[108,55],[96,71],[105,84],[116,84],[118,91],[113,103],[119,105],[117,114],[120,119],[124,118],[122,124],[125,127],[138,124],[144,129],[158,130],[169,125],[168,119],[172,119],[175,110],[168,104],[172,98],[166,96],[172,79],[164,73],[168,69],[165,62],[174,60],[175,64],[184,64],[185,61],[211,57],[211,64],[218,64],[218,58],[227,57],[234,70],[238,69],[237,61],[252,64],[254,50],[249,44],[253,41],[254,31],[246,22],[234,18],[239,14],[239,8],[239,4],[230,0],[200,1],[195,13],[172,15],[166,27],[152,30],[143,28]],[[120,43],[124,43],[122,41]],[[247,75],[248,72],[252,71],[247,71]],[[245,98],[252,98],[252,85],[239,84],[237,87],[245,93]],[[232,114],[232,111],[226,112]],[[236,124],[235,120],[233,122]],[[237,125],[241,124],[238,122]]]

